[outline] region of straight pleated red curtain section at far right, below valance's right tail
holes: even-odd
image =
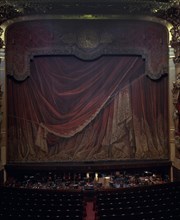
[[[136,158],[167,158],[167,85],[168,77],[156,81],[143,77],[131,86]]]

